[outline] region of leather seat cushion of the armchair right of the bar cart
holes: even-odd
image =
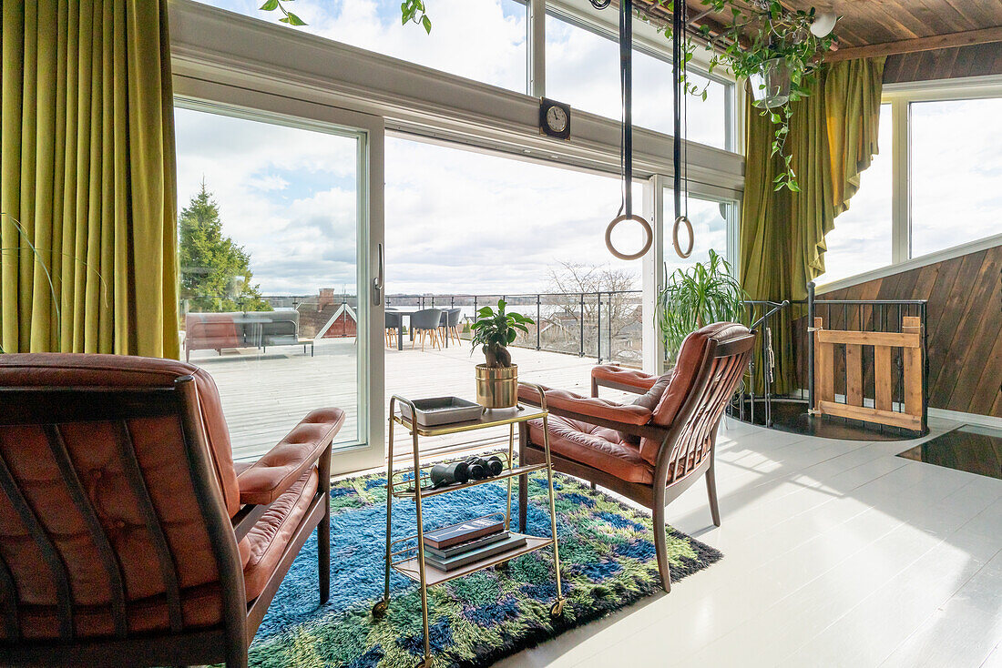
[[[548,424],[551,453],[629,483],[653,483],[654,468],[640,457],[640,451],[635,446],[623,443],[615,430],[559,416],[550,416]],[[541,449],[542,421],[532,420],[528,426],[530,444]]]

